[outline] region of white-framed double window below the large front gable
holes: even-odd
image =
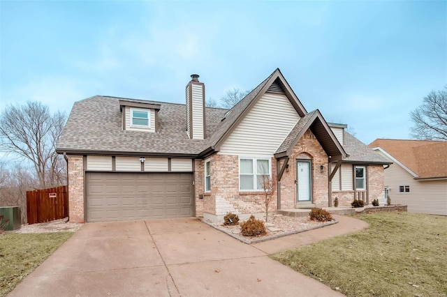
[[[240,158],[239,174],[241,191],[262,191],[263,181],[270,179],[270,159]]]

